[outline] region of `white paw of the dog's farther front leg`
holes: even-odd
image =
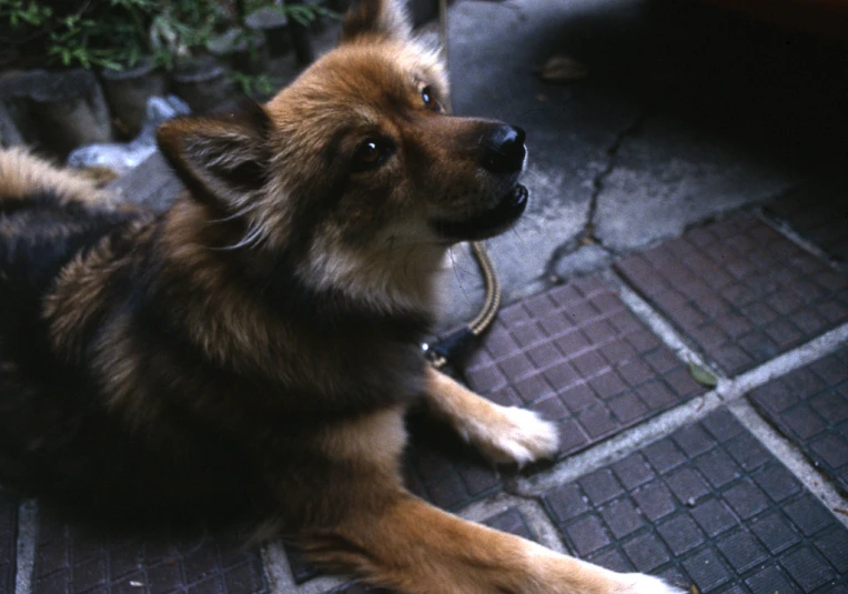
[[[552,457],[559,446],[556,425],[533,411],[494,405],[485,423],[468,423],[465,439],[483,455],[499,464],[523,466]]]

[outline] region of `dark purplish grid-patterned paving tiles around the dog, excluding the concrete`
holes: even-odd
[[[129,191],[138,175],[161,165],[119,183]],[[135,200],[162,208],[179,182],[154,181],[141,184],[147,190]],[[804,209],[776,204],[770,217],[784,217],[826,253],[840,255],[839,233],[821,231],[826,215],[805,218]],[[848,322],[844,270],[756,213],[738,212],[627,255],[612,272],[734,381]],[[516,480],[545,477],[544,490],[523,500],[538,516],[509,504],[484,523],[535,540],[542,523],[579,557],[664,575],[693,593],[848,593],[848,506],[828,509],[816,491],[824,481],[841,501],[848,495],[848,345],[828,348],[740,394],[822,473],[811,482],[761,445],[759,430],[746,429],[725,403],[643,443],[646,422],[697,404],[693,399],[708,389],[643,313],[619,299],[605,280],[609,272],[504,308],[464,370],[467,383],[493,401],[554,420],[562,437],[557,461],[518,474],[495,469],[446,427],[413,415],[405,465],[411,490],[464,515],[512,493]],[[623,433],[635,441],[617,459],[593,463],[576,480],[557,479],[569,456],[590,460],[595,446]],[[390,594],[316,581],[320,574],[293,547],[280,561],[209,534],[122,537],[69,525],[44,510],[31,542],[31,574],[22,581],[30,585],[16,592],[17,567],[28,571],[18,545],[31,537],[19,534],[18,504],[0,492],[0,594]]]

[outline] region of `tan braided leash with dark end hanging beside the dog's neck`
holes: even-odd
[[[438,38],[442,46],[442,59],[447,69],[447,0],[438,0]],[[453,113],[453,104],[450,95],[447,105],[445,107],[447,108],[448,113]],[[497,280],[497,272],[488,255],[486,245],[482,241],[472,241],[470,242],[470,245],[471,253],[474,255],[479,273],[483,276],[483,283],[486,288],[486,298],[483,301],[483,306],[479,309],[479,312],[471,322],[460,330],[448,334],[441,341],[422,345],[424,355],[430,361],[430,364],[437,370],[441,370],[448,363],[456,365],[470,346],[476,342],[478,336],[492,324],[492,321],[495,319],[495,315],[497,315],[497,310],[501,306],[501,282]]]

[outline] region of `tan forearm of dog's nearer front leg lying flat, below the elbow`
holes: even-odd
[[[660,580],[619,574],[461,520],[407,493],[352,513],[305,541],[313,561],[404,594],[674,594]]]

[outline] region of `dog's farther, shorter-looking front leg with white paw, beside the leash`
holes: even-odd
[[[427,407],[488,459],[521,466],[556,453],[553,423],[532,411],[495,404],[436,370],[427,373]]]

